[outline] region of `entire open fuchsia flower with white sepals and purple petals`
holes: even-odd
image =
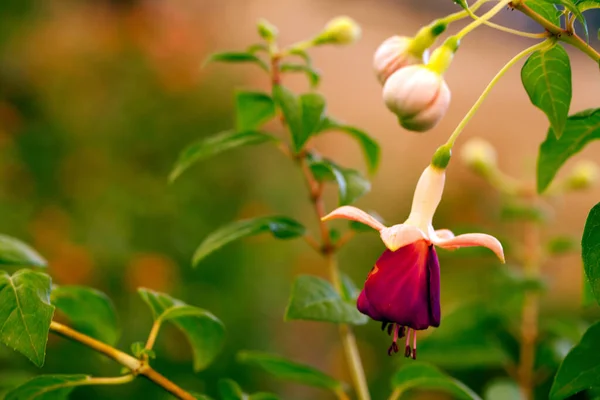
[[[484,246],[504,262],[502,245],[493,236],[454,236],[447,229],[433,229],[433,214],[442,198],[445,176],[444,169],[432,165],[423,171],[403,224],[386,227],[352,206],[340,207],[323,217],[324,221],[344,218],[366,224],[379,231],[387,247],[369,272],[357,306],[361,313],[381,321],[382,330],[387,327],[388,333],[393,334],[389,355],[398,352],[397,341],[406,336],[404,355],[416,358],[416,331],[440,325],[440,264],[434,245],[450,250]]]

